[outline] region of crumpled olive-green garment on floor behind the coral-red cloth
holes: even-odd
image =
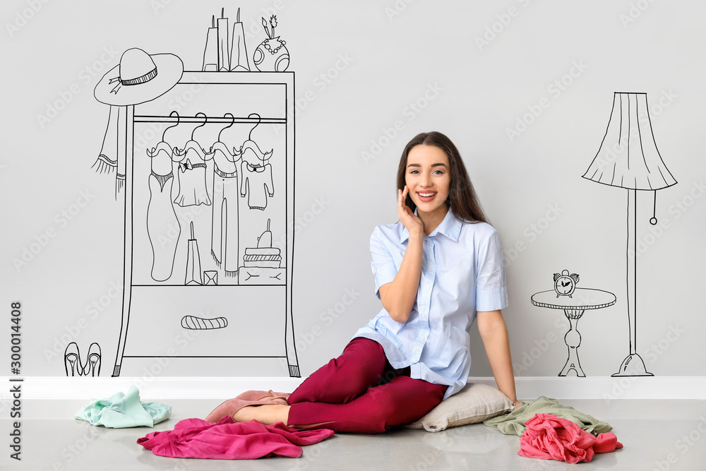
[[[497,427],[505,435],[522,435],[527,429],[525,422],[532,419],[535,414],[554,414],[556,417],[568,419],[590,434],[598,435],[613,429],[611,424],[584,414],[568,405],[561,405],[556,399],[540,396],[537,400],[522,401],[522,405],[509,414],[499,415],[486,419],[483,424],[487,427]]]

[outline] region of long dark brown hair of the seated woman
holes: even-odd
[[[431,133],[419,133],[412,138],[412,141],[407,143],[405,150],[402,151],[402,157],[400,157],[400,167],[397,168],[397,189],[405,189],[407,156],[415,145],[434,145],[443,150],[447,155],[451,167],[451,183],[448,198],[446,198],[445,203],[448,208],[450,208],[453,215],[466,222],[488,222],[481,208],[481,204],[478,201],[476,192],[473,189],[473,185],[471,184],[471,179],[468,177],[466,166],[463,165],[463,160],[461,159],[458,149],[454,143],[442,133],[436,131],[431,131]],[[414,204],[414,201],[412,201],[409,195],[407,195],[407,201],[405,203],[412,211],[417,209],[417,205]]]

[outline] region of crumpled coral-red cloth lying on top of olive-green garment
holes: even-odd
[[[594,453],[608,453],[623,448],[615,434],[594,436],[574,422],[554,414],[535,414],[525,422],[527,430],[520,437],[520,456],[540,460],[589,462]]]

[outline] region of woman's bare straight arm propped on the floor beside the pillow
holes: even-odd
[[[490,367],[495,376],[498,389],[515,403],[520,405],[515,393],[515,376],[513,375],[513,360],[510,358],[510,340],[508,328],[505,326],[503,313],[497,311],[479,311],[478,331],[483,339],[483,345],[488,355]]]

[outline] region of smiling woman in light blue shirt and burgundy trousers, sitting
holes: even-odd
[[[456,146],[437,132],[415,136],[397,189],[400,222],[376,227],[370,239],[380,314],[286,400],[235,410],[236,400],[210,419],[227,411],[238,422],[357,433],[409,424],[465,386],[475,318],[498,388],[520,405],[501,314],[503,249]]]

